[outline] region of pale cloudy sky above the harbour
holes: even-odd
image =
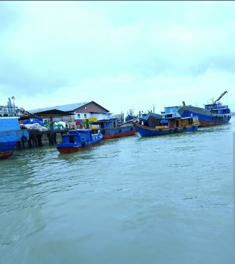
[[[0,105],[235,111],[235,1],[0,1]]]

